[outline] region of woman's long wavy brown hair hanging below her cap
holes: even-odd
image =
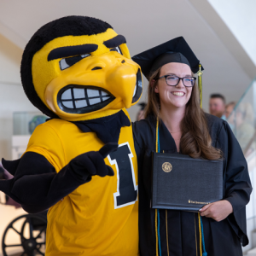
[[[154,87],[158,82],[156,79],[160,76],[160,68],[149,79],[148,104],[145,110],[146,117],[153,113],[159,119],[160,96],[154,92]],[[200,107],[197,84],[194,85],[189,102],[186,105],[185,114],[181,121],[181,131],[180,150],[182,154],[189,154],[193,158],[202,157],[207,160],[218,160],[222,157],[221,151],[212,147],[212,138],[208,130],[206,115]]]

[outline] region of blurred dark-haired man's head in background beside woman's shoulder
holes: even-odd
[[[209,101],[209,112],[220,119],[226,119],[225,112],[225,98],[221,94],[212,94]]]

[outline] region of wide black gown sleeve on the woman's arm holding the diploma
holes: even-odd
[[[224,199],[230,201],[233,207],[233,213],[228,220],[245,246],[248,243],[246,205],[250,200],[252,185],[247,161],[226,122],[219,132],[216,148],[220,148],[224,154]]]

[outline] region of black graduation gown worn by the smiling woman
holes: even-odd
[[[223,119],[207,115],[212,146],[224,154],[224,199],[234,212],[223,221],[202,217],[208,256],[241,256],[241,244],[248,243],[246,208],[252,186],[241,147],[230,126]],[[155,151],[156,120],[153,116],[133,124],[139,170],[139,239],[141,256],[156,255],[155,210],[150,208],[151,152]],[[160,151],[176,153],[172,135],[160,124]],[[198,215],[195,212],[160,210],[160,242],[163,256],[167,254],[166,213],[170,256],[196,256],[199,251]]]

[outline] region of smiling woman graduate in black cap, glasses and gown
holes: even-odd
[[[199,60],[182,37],[132,59],[149,80],[146,119],[133,124],[141,256],[241,256],[241,245],[248,243],[245,207],[252,191],[247,162],[230,126],[201,109],[194,78]],[[224,199],[202,207],[201,218],[197,212],[161,209],[157,213],[150,208],[156,139],[160,152],[223,159]]]

